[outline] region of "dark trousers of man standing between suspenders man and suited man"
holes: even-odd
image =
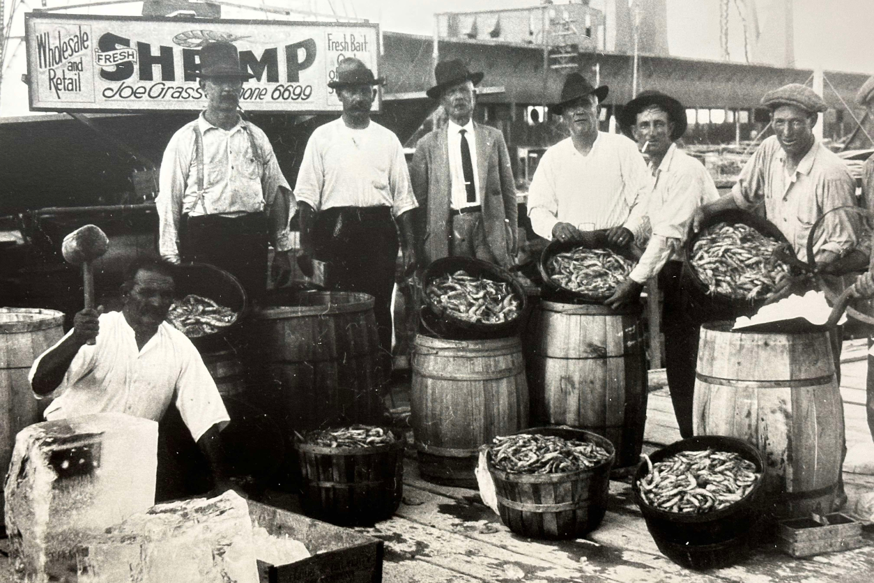
[[[387,206],[343,206],[319,212],[313,229],[317,260],[328,264],[326,286],[373,296],[384,373],[391,370],[392,288],[398,230]]]

